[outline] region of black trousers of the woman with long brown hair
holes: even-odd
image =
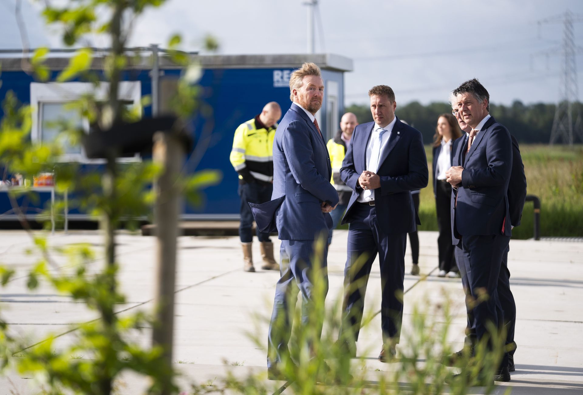
[[[437,180],[436,211],[437,227],[437,251],[439,269],[445,271],[458,271],[455,263],[455,246],[451,244],[451,184],[445,180]]]

